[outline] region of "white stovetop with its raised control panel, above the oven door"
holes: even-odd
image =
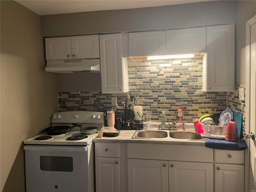
[[[98,128],[98,131],[104,126],[104,113],[92,112],[92,111],[70,111],[70,112],[58,112],[52,114],[51,120],[52,126],[70,126],[73,123],[82,125],[82,128],[94,126]],[[98,133],[94,134],[81,134],[80,127],[74,127],[68,130],[65,134],[48,135],[46,132],[34,136],[24,141],[24,144],[34,145],[88,145],[92,142],[92,139],[96,137]],[[36,138],[39,138],[36,139]],[[46,140],[41,140],[48,138]],[[75,140],[68,140],[68,138]],[[76,140],[76,137],[82,138]]]

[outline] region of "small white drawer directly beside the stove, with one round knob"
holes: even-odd
[[[95,143],[95,157],[120,157],[118,143]]]

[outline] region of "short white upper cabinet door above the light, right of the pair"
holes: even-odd
[[[189,28],[166,31],[166,54],[206,52],[206,28]]]

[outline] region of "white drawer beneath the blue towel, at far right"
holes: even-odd
[[[244,151],[214,150],[214,162],[226,164],[244,164]]]

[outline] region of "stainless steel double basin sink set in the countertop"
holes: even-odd
[[[190,139],[200,140],[202,136],[192,131],[136,130],[133,139]]]

